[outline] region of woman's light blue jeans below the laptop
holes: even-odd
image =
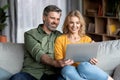
[[[77,67],[65,66],[61,70],[65,80],[107,80],[108,74],[89,62],[81,62]]]

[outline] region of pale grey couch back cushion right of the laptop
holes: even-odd
[[[101,42],[97,59],[97,66],[112,75],[115,67],[120,64],[120,40]]]

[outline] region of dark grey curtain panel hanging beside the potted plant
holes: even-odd
[[[7,0],[7,3],[9,4],[9,10],[8,10],[8,28],[7,31],[9,32],[8,39],[9,42],[15,43],[17,41],[17,4],[16,0]]]

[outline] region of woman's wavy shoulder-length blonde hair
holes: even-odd
[[[82,14],[81,14],[78,10],[71,11],[71,12],[69,12],[68,15],[66,16],[65,21],[64,21],[64,24],[63,24],[63,27],[62,27],[63,33],[64,33],[64,34],[69,33],[69,29],[68,29],[68,27],[69,27],[68,24],[69,24],[69,23],[68,23],[68,22],[69,22],[70,18],[73,17],[73,16],[78,17],[78,19],[79,19],[79,21],[80,21],[80,24],[81,24],[81,28],[80,28],[80,30],[79,30],[79,35],[80,35],[80,36],[84,36],[84,35],[85,35],[85,25],[86,25],[86,24],[85,24],[85,20],[84,20]]]

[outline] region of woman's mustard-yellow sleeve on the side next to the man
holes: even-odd
[[[61,37],[58,37],[55,41],[55,46],[54,46],[54,52],[55,52],[55,59],[60,60],[63,59],[64,57],[64,50],[63,50],[63,43],[64,41],[62,40]]]

